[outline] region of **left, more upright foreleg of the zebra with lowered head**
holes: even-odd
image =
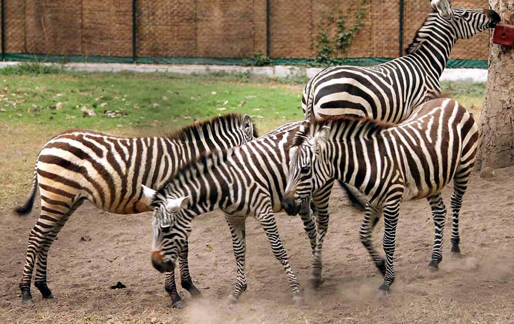
[[[246,291],[246,218],[234,217],[225,214],[230,234],[232,236],[232,249],[234,251],[235,263],[237,267],[237,279],[234,289],[228,296],[227,302],[234,303],[237,301],[242,292]]]

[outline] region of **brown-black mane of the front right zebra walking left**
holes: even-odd
[[[371,136],[378,134],[385,129],[395,127],[396,124],[383,120],[372,119],[369,117],[355,117],[346,115],[334,116],[332,118],[322,120],[316,119],[314,122],[305,121],[302,125],[302,128],[300,128],[298,133],[293,138],[291,147],[302,145],[305,140],[312,138],[316,132],[318,132],[324,126],[328,126],[332,130],[343,130],[350,127],[353,130],[358,131],[358,133],[361,135]],[[342,135],[344,132],[339,131],[338,134]]]

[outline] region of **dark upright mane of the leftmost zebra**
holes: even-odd
[[[244,115],[241,114],[225,114],[216,116],[212,119],[195,122],[191,125],[188,125],[176,132],[168,134],[168,138],[179,140],[179,141],[191,141],[198,140],[198,131],[201,129],[216,129],[223,128],[223,125],[231,124],[232,122],[236,122],[237,124],[242,124]],[[257,130],[255,128],[255,123],[252,121],[253,127],[253,136],[259,137],[257,134]]]

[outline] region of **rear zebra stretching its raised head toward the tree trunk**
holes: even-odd
[[[489,9],[451,8],[432,0],[432,8],[407,55],[370,67],[333,66],[321,70],[303,90],[305,119],[365,116],[398,123],[440,93],[439,77],[457,39],[493,28],[500,16]]]

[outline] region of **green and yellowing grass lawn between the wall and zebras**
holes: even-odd
[[[40,148],[67,129],[162,135],[197,119],[245,113],[263,134],[302,119],[306,81],[246,74],[70,73],[37,64],[0,69],[0,210],[24,199]],[[443,91],[480,113],[485,84],[444,83]],[[85,116],[83,107],[95,115]]]

